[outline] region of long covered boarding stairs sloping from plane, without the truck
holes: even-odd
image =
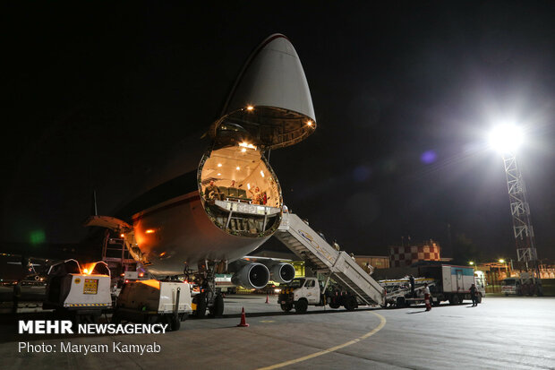
[[[373,280],[354,259],[337,251],[323,237],[294,213],[284,213],[274,235],[306,265],[333,279],[358,298],[363,305],[385,305],[385,289]]]

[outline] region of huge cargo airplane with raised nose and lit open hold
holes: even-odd
[[[234,283],[247,288],[295,277],[289,263],[243,257],[266,242],[282,219],[282,192],[269,151],[301,142],[315,128],[295,47],[286,36],[271,35],[247,59],[209,126],[208,148],[188,147],[186,156],[196,154],[198,166],[180,164],[181,174],[136,196],[117,219],[95,216],[86,224],[121,232],[133,258],[155,276],[185,274],[200,282],[197,311],[221,314],[216,273],[235,270]]]

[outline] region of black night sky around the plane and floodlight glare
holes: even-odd
[[[280,32],[318,128],[270,163],[313,228],[355,254],[410,236],[449,256],[449,224],[452,245],[515,258],[485,145],[505,120],[525,129],[538,254],[555,258],[555,3],[158,3],[3,2],[3,242],[80,240],[92,189],[114,212],[218,118],[252,49]]]

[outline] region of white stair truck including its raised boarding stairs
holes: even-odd
[[[385,289],[354,258],[329,245],[294,213],[284,213],[275,236],[321,278],[295,279],[287,284],[278,296],[284,311],[295,308],[303,314],[308,305],[343,305],[349,311],[358,305],[385,305]]]

